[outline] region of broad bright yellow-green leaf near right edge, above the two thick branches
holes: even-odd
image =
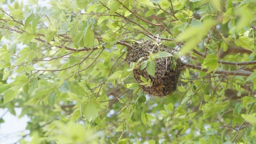
[[[241,46],[247,50],[253,51],[253,39],[245,36],[241,36],[235,40],[237,46]]]

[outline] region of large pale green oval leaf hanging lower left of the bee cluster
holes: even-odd
[[[83,115],[88,121],[94,121],[98,117],[98,110],[92,101],[83,107]]]

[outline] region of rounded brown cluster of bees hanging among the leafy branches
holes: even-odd
[[[146,69],[140,70],[140,64],[146,61],[149,57],[149,52],[153,54],[161,51],[172,53],[172,50],[165,45],[155,45],[152,41],[142,41],[141,43],[132,43],[132,49],[129,49],[126,56],[126,61],[137,62],[139,58],[138,67],[133,69],[133,76],[138,83],[143,83],[141,76],[146,80],[151,80],[151,85],[139,85],[141,89],[149,95],[157,97],[165,97],[176,91],[179,74],[183,63],[180,58],[165,57],[155,59],[155,76],[149,75]],[[173,60],[171,60],[173,58]],[[175,62],[176,64],[174,64]],[[176,68],[173,67],[176,65]]]

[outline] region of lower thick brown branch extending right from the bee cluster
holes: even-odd
[[[205,72],[208,71],[208,69],[202,69],[202,67],[199,65],[193,65],[188,63],[184,63],[184,64],[185,64],[184,67],[187,67],[187,68],[193,68],[193,69],[201,70]],[[210,73],[222,74],[222,75],[241,75],[241,76],[249,76],[252,74],[251,72],[248,72],[248,71],[225,71],[225,70],[216,70],[215,72],[211,71]]]

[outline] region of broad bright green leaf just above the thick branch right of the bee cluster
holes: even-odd
[[[203,60],[203,68],[209,68],[207,72],[211,72],[215,70],[218,66],[218,56],[217,55],[207,55],[206,58]]]

